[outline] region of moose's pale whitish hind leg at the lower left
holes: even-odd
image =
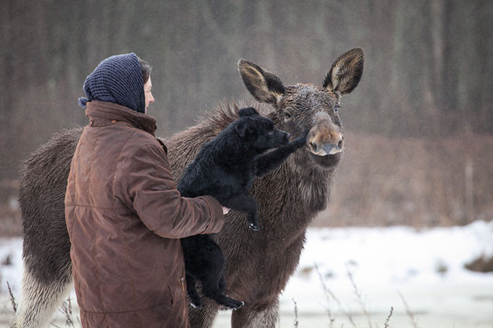
[[[22,297],[9,328],[47,327],[63,299],[73,286],[71,267],[65,275],[42,282],[24,267]]]

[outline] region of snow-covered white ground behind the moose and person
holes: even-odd
[[[21,246],[20,239],[0,239],[0,263],[11,262],[0,266],[0,325],[11,316],[6,281],[20,294]],[[280,298],[280,326],[294,327],[294,299],[298,327],[384,327],[392,307],[389,327],[491,328],[493,273],[464,268],[481,255],[493,256],[493,222],[309,229],[299,270]],[[229,327],[229,314],[214,327]]]

